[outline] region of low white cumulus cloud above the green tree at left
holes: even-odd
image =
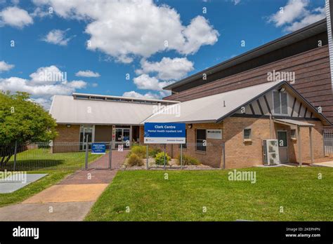
[[[77,89],[86,88],[86,85],[87,83],[81,80],[67,81],[66,73],[61,72],[55,65],[40,67],[30,74],[30,79],[20,77],[0,79],[0,90],[30,93],[33,99],[46,109],[49,108],[53,95],[70,95]]]

